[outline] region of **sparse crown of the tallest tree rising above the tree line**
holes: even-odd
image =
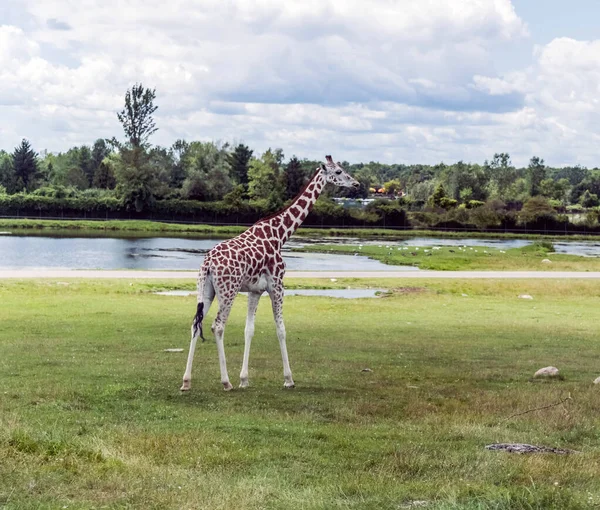
[[[158,129],[152,116],[158,108],[154,105],[155,99],[156,89],[144,88],[141,83],[125,93],[125,108],[117,113],[117,118],[134,148],[145,146]]]

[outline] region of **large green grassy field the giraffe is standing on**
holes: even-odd
[[[207,342],[188,394],[164,349],[187,349],[195,298],[151,293],[175,283],[0,281],[0,508],[600,508],[597,283],[290,280],[391,292],[287,298],[288,391],[263,302],[251,387],[222,391]],[[531,379],[547,365],[564,378]]]

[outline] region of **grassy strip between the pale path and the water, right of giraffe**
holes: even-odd
[[[295,251],[367,256],[384,264],[437,271],[600,271],[600,258],[554,253],[552,244],[536,241],[523,248],[499,250],[482,246],[432,247],[314,245]],[[542,262],[542,261],[546,262]],[[548,262],[550,261],[550,262]]]

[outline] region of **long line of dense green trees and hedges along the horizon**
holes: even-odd
[[[152,145],[158,129],[155,101],[156,91],[141,84],[127,90],[117,112],[121,140],[98,139],[41,155],[27,140],[10,152],[0,150],[0,214],[32,208],[70,208],[75,214],[77,204],[87,204],[117,216],[171,211],[181,219],[192,210],[210,210],[216,221],[236,211],[252,221],[294,197],[320,163],[286,159],[281,148],[258,154],[244,143],[177,140],[170,147]],[[589,227],[597,225],[598,168],[550,167],[536,156],[517,167],[507,153],[494,154],[483,164],[342,164],[360,188],[327,189],[314,216],[349,224],[378,224],[383,218],[407,225],[410,218],[421,226],[486,228],[534,217],[560,223],[567,221],[561,215],[575,212],[582,213]],[[366,198],[373,188],[383,188],[384,196],[364,209],[348,211],[332,202],[333,197]]]

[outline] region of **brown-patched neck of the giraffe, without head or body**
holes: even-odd
[[[321,195],[325,187],[325,176],[321,170],[318,170],[315,175],[308,181],[308,184],[302,190],[294,201],[279,214],[259,222],[260,224],[268,224],[271,227],[271,232],[280,243],[280,246],[292,236],[298,227],[302,225],[313,205]]]

